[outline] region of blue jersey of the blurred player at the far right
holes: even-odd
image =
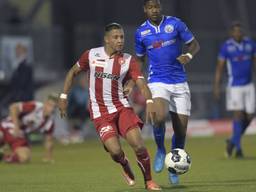
[[[218,58],[226,61],[230,86],[246,85],[252,82],[254,57],[256,57],[255,42],[248,37],[244,37],[240,43],[233,38],[223,43]]]

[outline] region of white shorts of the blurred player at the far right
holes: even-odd
[[[228,86],[226,89],[226,107],[229,111],[255,112],[255,88],[252,83],[244,86]]]

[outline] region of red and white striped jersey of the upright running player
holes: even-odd
[[[77,65],[89,71],[89,95],[91,118],[114,113],[122,107],[130,107],[123,94],[123,85],[129,79],[143,78],[136,59],[127,53],[110,57],[104,47],[85,51]]]

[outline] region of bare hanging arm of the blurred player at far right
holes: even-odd
[[[216,101],[220,99],[220,83],[222,79],[224,66],[225,66],[225,60],[219,59],[216,66],[214,85],[213,85],[213,96]]]

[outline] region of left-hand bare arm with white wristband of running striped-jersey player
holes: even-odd
[[[61,117],[66,116],[67,96],[72,86],[74,77],[78,75],[81,71],[82,71],[81,68],[77,64],[75,64],[66,75],[63,92],[60,94],[59,103],[58,103]]]

